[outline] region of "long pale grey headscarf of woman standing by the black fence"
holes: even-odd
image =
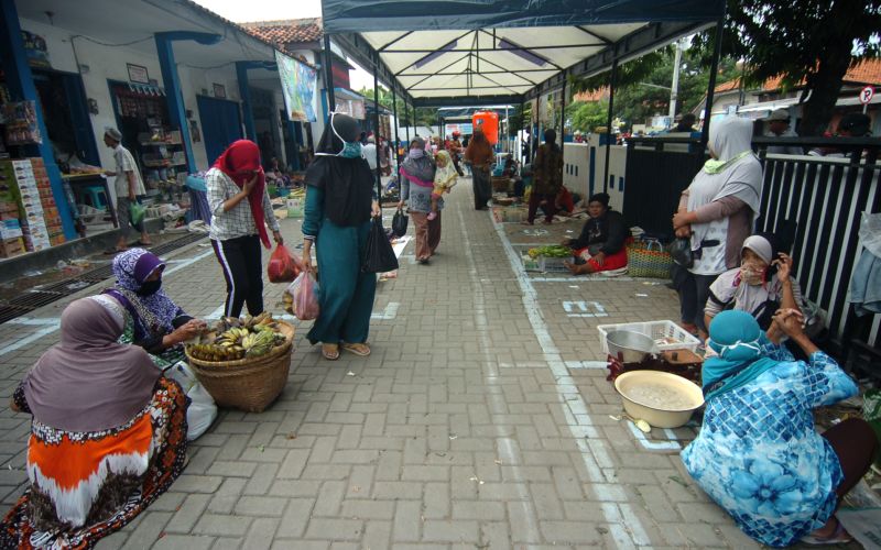
[[[762,196],[762,165],[752,154],[752,122],[727,117],[714,123],[709,142],[715,161],[707,161],[688,187],[688,211],[725,197],[737,197],[759,216]],[[711,223],[692,224],[692,250],[698,250]]]

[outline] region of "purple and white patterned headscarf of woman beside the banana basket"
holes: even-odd
[[[160,288],[153,294],[139,294],[146,277],[165,270],[165,263],[144,249],[130,249],[113,257],[113,276],[117,284],[109,294],[121,295],[134,319],[134,340],[174,330],[172,321],[181,308]]]

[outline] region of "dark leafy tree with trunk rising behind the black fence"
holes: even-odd
[[[804,82],[802,135],[820,135],[847,69],[881,55],[881,0],[728,0],[722,53],[746,62],[744,84]],[[694,44],[709,59],[715,30]]]

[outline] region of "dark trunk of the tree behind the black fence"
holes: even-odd
[[[837,0],[827,21],[838,36],[851,36],[848,29],[853,14],[862,11],[861,0]],[[840,33],[839,33],[840,31]],[[836,35],[836,34],[831,34]],[[834,40],[819,51],[817,72],[807,79],[811,98],[804,106],[804,117],[798,133],[803,136],[823,135],[833,118],[841,81],[850,66],[850,40]]]

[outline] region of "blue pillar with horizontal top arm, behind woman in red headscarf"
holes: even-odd
[[[181,92],[181,78],[177,75],[177,65],[174,62],[173,42],[176,40],[192,40],[199,44],[210,45],[219,42],[219,34],[195,33],[186,31],[172,31],[156,33],[156,54],[162,69],[162,84],[165,86],[165,101],[168,106],[168,120],[173,127],[181,131],[181,140],[186,154],[186,168],[191,174],[196,172],[196,157],[193,155],[193,143],[189,141],[189,127],[186,121],[186,107],[184,95]]]

